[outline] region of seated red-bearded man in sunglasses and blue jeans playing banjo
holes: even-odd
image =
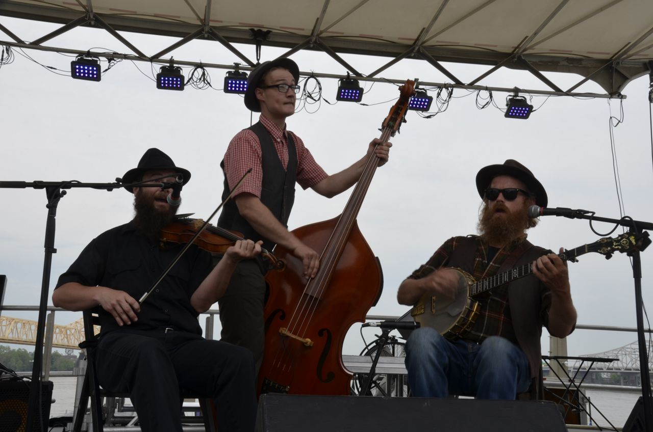
[[[547,193],[512,159],[482,168],[476,187],[483,198],[480,235],[447,240],[400,285],[397,300],[415,305],[423,296],[428,304],[432,296],[453,299],[462,277],[454,268],[479,280],[532,262],[534,275],[475,298],[477,318],[453,340],[433,328],[415,330],[406,344],[409,385],[422,397],[515,399],[528,392],[541,399],[542,327],[565,337],[576,323],[566,264],[526,240],[526,230],[537,224],[528,207],[546,207]]]

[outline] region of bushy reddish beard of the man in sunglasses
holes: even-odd
[[[502,204],[490,209],[488,203],[483,204],[479,216],[478,230],[481,238],[490,245],[507,245],[524,237],[527,228],[530,228],[528,217],[529,203],[524,201],[524,207],[511,212]],[[493,217],[497,210],[503,209],[505,217]]]

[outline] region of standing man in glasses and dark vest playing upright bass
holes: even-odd
[[[263,240],[272,250],[283,245],[302,260],[304,275],[315,277],[319,255],[293,236],[287,222],[295,201],[295,183],[331,198],[354,185],[374,153],[379,166],[388,160],[392,144],[375,139],[367,154],[345,170],[329,176],[313,159],[301,138],[287,131],[286,119],[295,114],[300,86],[299,68],[291,59],[266,61],[249,74],[245,106],[260,112],[259,122],[238,132],[229,143],[221,167],[223,196],[249,168],[251,174],[225,205],[219,225]],[[250,348],[257,369],[263,357],[263,299],[265,281],[253,260],[239,264],[225,296],[219,301],[222,340]]]

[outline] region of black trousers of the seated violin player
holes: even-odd
[[[256,420],[251,352],[200,335],[164,330],[116,330],[97,346],[98,380],[128,392],[142,431],[181,432],[183,388],[212,397],[220,432],[252,432]]]

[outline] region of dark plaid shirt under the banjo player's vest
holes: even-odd
[[[462,237],[453,237],[445,241],[443,245],[429,258],[426,264],[422,264],[419,269],[413,271],[409,279],[421,279],[430,275],[438,268],[446,267],[449,258],[456,249],[456,244]],[[511,243],[500,249],[494,258],[488,263],[488,253],[490,247],[481,238],[477,237],[478,247],[474,253],[473,263],[473,277],[477,280],[485,277],[493,276],[497,273],[499,268],[505,262],[506,258],[518,247],[520,243]],[[526,238],[524,238],[526,239]],[[531,276],[534,277],[534,276]],[[550,305],[550,291],[548,289],[541,290],[543,309],[547,309]],[[481,343],[488,336],[502,336],[509,341],[517,344],[517,337],[513,329],[512,319],[510,314],[510,307],[508,304],[508,290],[507,285],[498,286],[494,290],[490,290],[479,296],[481,309],[479,316],[471,328],[471,330],[464,335],[464,339],[472,342]],[[542,311],[541,311],[542,312]]]

